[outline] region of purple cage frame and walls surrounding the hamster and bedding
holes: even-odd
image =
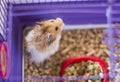
[[[1,0],[0,41],[7,42],[11,62],[9,77],[6,79],[1,77],[0,82],[24,82],[28,79],[24,77],[24,27],[36,21],[57,17],[64,20],[66,24],[64,30],[106,28],[105,33],[108,37],[105,37],[103,42],[108,44],[110,50],[108,77],[111,82],[119,82],[120,79],[116,81],[116,78],[120,76],[120,72],[115,70],[120,70],[120,47],[114,47],[120,44],[119,9],[119,0]],[[53,81],[56,78],[53,76],[41,79],[57,82]]]

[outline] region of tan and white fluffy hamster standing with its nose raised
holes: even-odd
[[[61,18],[37,22],[25,37],[30,59],[42,63],[59,49],[64,23]]]

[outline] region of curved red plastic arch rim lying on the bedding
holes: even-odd
[[[103,70],[103,75],[104,75],[104,78],[103,78],[102,82],[108,82],[107,63],[104,60],[102,60],[100,58],[97,58],[97,57],[93,57],[93,56],[82,56],[82,57],[80,56],[80,57],[74,57],[74,58],[67,59],[62,64],[61,71],[60,71],[60,76],[62,77],[64,75],[64,72],[65,72],[66,68],[70,64],[79,63],[81,61],[88,61],[88,60],[99,63],[99,65],[101,66],[101,68]],[[61,82],[63,82],[63,81],[61,81]]]

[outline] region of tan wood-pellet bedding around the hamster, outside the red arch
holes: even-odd
[[[24,76],[59,76],[62,62],[75,56],[92,55],[105,60],[109,64],[108,46],[102,44],[103,31],[104,29],[64,30],[59,51],[42,64],[32,63],[24,48]]]

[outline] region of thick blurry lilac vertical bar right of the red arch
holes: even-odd
[[[112,0],[108,0],[108,8],[106,10],[107,24],[108,24],[108,45],[109,45],[109,59],[110,59],[110,78],[114,82],[115,78],[115,58],[114,58],[114,38],[112,29]]]

